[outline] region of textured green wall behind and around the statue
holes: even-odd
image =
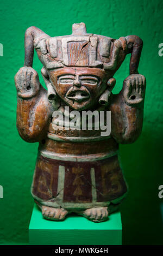
[[[129,185],[122,203],[123,244],[163,244],[158,187],[163,184],[163,2],[160,0],[35,0],[1,1],[0,43],[4,56],[1,70],[1,173],[4,198],[0,199],[0,243],[28,242],[28,225],[33,208],[30,185],[35,166],[37,144],[28,144],[16,130],[16,90],[14,75],[24,62],[24,33],[36,26],[53,36],[72,33],[72,23],[85,22],[88,33],[120,38],[139,35],[144,46],[139,66],[147,78],[145,116],[140,138],[132,145],[121,145],[124,174]],[[115,74],[114,92],[120,91],[129,75],[129,57]],[[34,69],[40,76],[41,63],[34,57]],[[162,210],[163,211],[163,210]],[[162,217],[161,217],[162,216]]]

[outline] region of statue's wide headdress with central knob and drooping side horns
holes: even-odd
[[[114,74],[127,53],[131,53],[130,74],[136,74],[142,40],[136,35],[112,39],[87,34],[84,23],[74,23],[72,35],[49,37],[39,28],[30,27],[25,37],[24,66],[32,67],[34,48],[46,69],[61,67],[97,67]]]

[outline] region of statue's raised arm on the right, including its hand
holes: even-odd
[[[121,92],[112,96],[111,135],[120,144],[133,143],[141,133],[145,91],[145,77],[133,74],[124,80]]]

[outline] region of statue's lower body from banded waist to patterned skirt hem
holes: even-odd
[[[36,201],[65,209],[118,203],[127,192],[118,144],[101,130],[54,129],[40,144],[32,194]]]

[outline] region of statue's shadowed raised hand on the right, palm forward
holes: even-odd
[[[123,81],[123,97],[128,105],[141,103],[145,99],[146,79],[140,74],[129,75]]]

